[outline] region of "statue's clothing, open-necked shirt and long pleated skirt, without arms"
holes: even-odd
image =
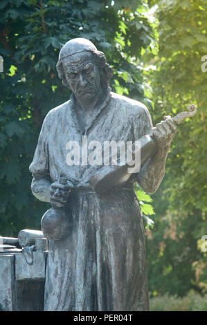
[[[68,165],[69,141],[134,142],[152,131],[146,107],[109,92],[94,109],[86,129],[71,100],[49,111],[42,125],[30,171],[55,182],[73,183],[64,210],[68,234],[49,241],[44,310],[148,310],[145,236],[133,184],[137,174],[112,193],[96,194],[89,179],[100,165]],[[81,152],[80,152],[81,158]],[[81,163],[81,159],[80,159]]]

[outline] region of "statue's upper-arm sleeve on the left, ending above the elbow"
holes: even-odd
[[[37,147],[33,162],[30,164],[29,170],[33,176],[41,177],[49,174],[49,156],[48,156],[48,121],[45,118],[42,129],[39,133]]]

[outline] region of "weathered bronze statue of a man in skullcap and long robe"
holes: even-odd
[[[62,47],[57,72],[71,99],[46,115],[30,165],[33,194],[64,205],[69,221],[66,236],[49,240],[44,309],[148,310],[145,236],[133,185],[138,182],[150,193],[159,187],[176,124],[169,119],[153,129],[143,104],[111,92],[112,68],[87,39],[71,39]],[[86,139],[102,145],[134,142],[146,134],[156,139],[155,156],[112,192],[97,194],[90,187],[102,166],[86,163],[82,149],[78,157],[84,163],[66,158],[69,142],[82,148]],[[65,185],[57,182],[61,174]]]

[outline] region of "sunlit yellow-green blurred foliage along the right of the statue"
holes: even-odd
[[[154,202],[154,229],[148,233],[147,261],[154,295],[185,295],[193,288],[207,292],[207,256],[201,251],[206,223],[206,77],[201,57],[206,48],[206,0],[149,1],[155,15],[159,52],[148,59],[146,77],[153,89],[154,124],[163,115],[198,113],[179,125],[166,164],[165,178]]]

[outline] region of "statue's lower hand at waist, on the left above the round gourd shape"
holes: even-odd
[[[56,207],[62,207],[69,197],[70,189],[67,185],[53,183],[50,187],[50,202]]]

